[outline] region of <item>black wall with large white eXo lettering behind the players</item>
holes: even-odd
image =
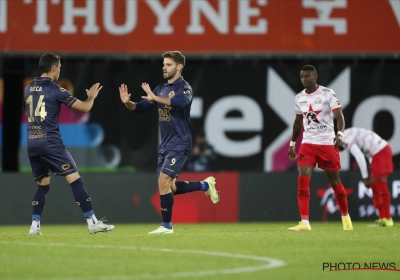
[[[24,77],[34,77],[39,75],[38,59],[39,56],[19,57],[15,59],[14,67],[22,71]],[[281,136],[286,135],[279,138],[279,145],[286,147],[289,141],[294,120],[292,104],[294,95],[302,90],[299,71],[305,64],[315,65],[318,83],[332,87],[337,93],[342,102],[346,127],[365,127],[389,140],[395,168],[400,168],[400,113],[395,109],[400,106],[398,59],[312,56],[199,59],[189,56],[187,60],[183,76],[192,85],[195,97],[191,130],[193,134],[201,130],[206,132],[218,156],[217,170],[269,172],[295,169],[285,155],[273,159],[274,166],[278,168],[267,166],[266,150],[274,153],[279,148],[275,146],[279,144],[275,141]],[[72,82],[77,98],[85,100],[85,89],[93,83],[100,82],[104,86],[88,122],[98,123],[104,130],[99,148],[112,146],[120,151],[119,167],[134,167],[137,171],[154,170],[158,145],[157,110],[142,114],[127,110],[120,101],[118,87],[122,83],[127,84],[132,93],[131,99],[139,101],[142,82],[148,82],[152,88],[163,82],[161,64],[161,57],[62,56],[60,78]],[[15,129],[18,118],[8,115],[10,111],[21,111],[21,100],[15,97],[22,94],[20,80],[12,84],[12,91],[9,88],[5,91],[3,125],[4,129],[13,129],[3,133],[3,152],[9,153],[10,148],[15,150],[15,143],[20,141],[19,131]],[[236,101],[235,98],[241,99]],[[218,106],[219,109],[216,109]],[[218,117],[217,113],[221,110],[226,111]],[[237,124],[228,128],[227,121]],[[254,150],[244,152],[244,143],[256,138],[259,139],[257,144],[253,147],[247,145]],[[231,148],[227,148],[228,144],[232,145]],[[20,152],[25,154],[25,150]],[[82,150],[82,153],[85,151]],[[14,157],[7,157],[7,160],[3,157],[3,164],[12,162]],[[22,166],[29,168],[26,160],[21,162]],[[80,162],[78,165],[82,167]],[[351,167],[351,164],[342,165],[344,170]]]

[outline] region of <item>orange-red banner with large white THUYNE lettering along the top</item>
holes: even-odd
[[[400,0],[1,0],[2,52],[385,53]]]

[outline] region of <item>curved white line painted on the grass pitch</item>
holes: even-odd
[[[263,257],[263,256],[252,256],[243,254],[230,254],[210,251],[197,251],[197,250],[176,250],[168,248],[148,248],[148,247],[135,247],[135,246],[109,246],[109,245],[85,245],[85,244],[65,244],[65,243],[37,243],[37,242],[4,242],[2,244],[16,244],[16,245],[29,245],[29,246],[50,246],[50,247],[73,247],[73,248],[90,248],[90,249],[119,249],[119,250],[142,250],[142,251],[159,251],[159,252],[172,252],[172,253],[187,253],[187,254],[199,254],[209,256],[220,256],[227,258],[237,259],[248,259],[261,261],[266,264],[258,266],[245,266],[230,269],[217,269],[217,270],[201,270],[201,271],[187,271],[187,272],[174,272],[174,273],[162,273],[162,274],[140,274],[140,275],[104,275],[104,276],[93,276],[93,277],[57,277],[57,278],[45,278],[46,280],[88,280],[88,279],[106,279],[109,280],[112,277],[113,280],[128,280],[128,279],[157,279],[157,278],[183,278],[183,277],[200,277],[210,276],[219,274],[236,274],[254,272],[258,270],[265,270],[276,268],[286,265],[284,261]],[[34,278],[32,278],[34,279]],[[44,279],[44,278],[42,278]]]

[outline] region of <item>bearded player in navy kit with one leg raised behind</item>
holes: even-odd
[[[207,177],[204,181],[176,181],[184,167],[192,147],[190,133],[190,108],[193,92],[189,83],[182,77],[185,56],[179,51],[168,51],[162,55],[163,77],[167,83],[160,84],[153,91],[147,83],[142,83],[146,92],[142,101],[130,101],[128,87],[119,88],[121,101],[134,112],[144,112],[158,108],[161,143],[158,152],[157,176],[161,204],[161,226],[148,234],[173,233],[172,208],[174,195],[203,190],[213,203],[219,201],[215,189],[215,178]]]

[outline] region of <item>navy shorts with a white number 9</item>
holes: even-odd
[[[185,150],[158,153],[157,178],[160,177],[160,172],[172,178],[178,178],[187,157]]]

